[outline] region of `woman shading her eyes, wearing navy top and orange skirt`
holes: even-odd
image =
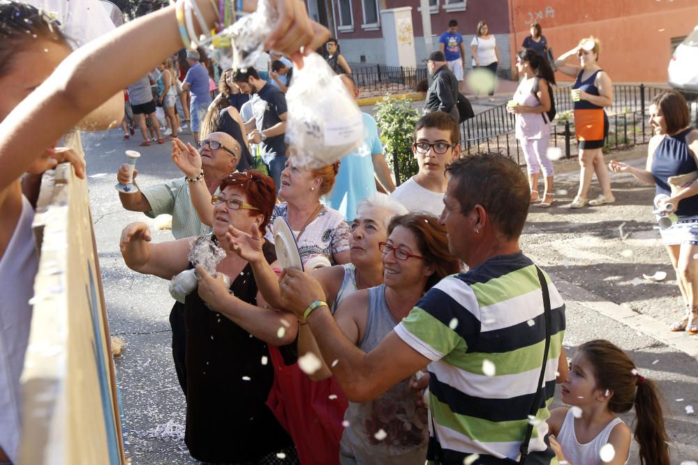
[[[579,191],[570,204],[570,208],[582,208],[591,205],[612,204],[616,201],[611,192],[611,179],[604,162],[602,148],[608,134],[609,121],[604,107],[613,103],[613,84],[611,78],[597,61],[601,43],[595,37],[584,38],[569,52],[555,61],[560,73],[577,78],[572,86],[574,100],[574,131],[579,142]],[[565,63],[570,56],[577,55],[579,65]],[[588,200],[591,178],[596,178],[601,185],[601,194],[596,199]]]

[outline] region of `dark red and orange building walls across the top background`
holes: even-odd
[[[412,8],[417,61],[426,57],[419,0],[306,0],[311,17],[329,27],[350,63],[385,63],[380,11]],[[449,20],[457,20],[470,66],[470,40],[477,22],[489,24],[497,38],[500,70],[507,73],[512,56],[537,21],[554,53],[597,36],[603,44],[600,65],[616,82],[666,82],[674,47],[698,24],[697,0],[429,0],[431,43]],[[560,80],[565,77],[560,76]]]

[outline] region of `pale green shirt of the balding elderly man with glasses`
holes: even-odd
[[[172,215],[172,236],[181,239],[191,236],[203,236],[211,232],[211,227],[202,224],[198,213],[191,204],[189,183],[186,178],[177,178],[167,183],[152,185],[141,190],[152,208],[145,212],[149,218],[158,215]],[[215,194],[221,192],[216,188]]]

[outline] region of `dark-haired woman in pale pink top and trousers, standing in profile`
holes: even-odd
[[[552,98],[549,83],[555,84],[555,74],[548,61],[530,48],[517,54],[517,71],[523,79],[507,104],[507,112],[517,116],[516,135],[526,157],[530,201],[538,199],[538,179],[542,170],[545,192],[537,206],[548,208],[553,203],[553,164],[547,155],[550,121],[546,112]]]

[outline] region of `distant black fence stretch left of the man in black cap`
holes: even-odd
[[[426,79],[426,68],[404,66],[370,66],[352,70],[362,96],[383,95],[396,91],[414,91]]]

